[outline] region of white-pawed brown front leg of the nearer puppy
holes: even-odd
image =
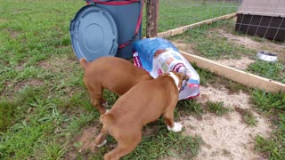
[[[183,125],[181,123],[175,123],[174,121],[174,109],[169,109],[163,115],[164,121],[167,124],[167,130],[172,132],[181,132]]]

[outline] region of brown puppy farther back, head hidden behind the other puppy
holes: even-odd
[[[89,63],[81,59],[80,64],[85,69],[85,86],[92,97],[94,107],[101,114],[106,112],[103,107],[106,102],[102,98],[103,88],[123,95],[135,84],[152,79],[147,71],[117,57],[101,57]]]

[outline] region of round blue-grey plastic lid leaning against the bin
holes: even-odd
[[[118,28],[110,13],[94,4],[85,5],[70,22],[71,44],[77,58],[88,61],[118,52]]]

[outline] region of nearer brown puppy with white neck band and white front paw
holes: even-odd
[[[174,122],[174,110],[178,92],[188,76],[169,72],[151,81],[143,81],[121,96],[110,111],[100,117],[101,133],[95,144],[101,147],[107,141],[107,133],[118,142],[117,148],[104,156],[105,160],[126,156],[142,140],[142,126],[163,115],[167,129],[180,132],[182,124]]]

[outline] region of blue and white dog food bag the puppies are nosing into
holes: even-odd
[[[134,66],[144,68],[156,78],[169,71],[183,72],[189,76],[183,82],[179,100],[199,96],[199,75],[178,51],[174,44],[163,38],[145,38],[133,45]]]

